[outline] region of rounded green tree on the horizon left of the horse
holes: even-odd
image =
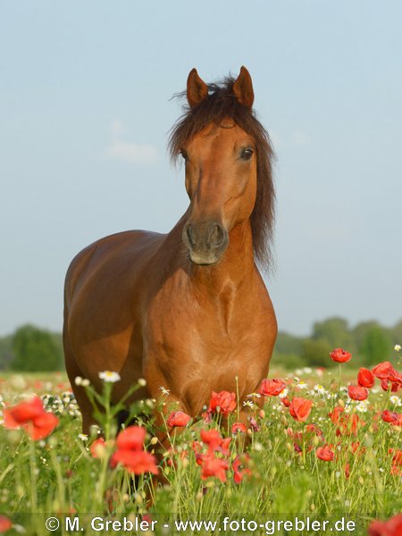
[[[32,325],[25,325],[13,334],[12,339],[14,371],[46,372],[61,368],[63,355],[54,335]]]

